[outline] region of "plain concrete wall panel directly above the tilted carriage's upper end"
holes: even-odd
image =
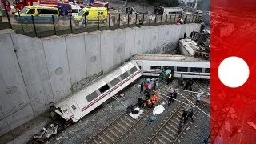
[[[125,29],[125,33],[126,33],[125,59],[132,57],[132,54],[134,54],[135,32],[136,32],[136,29],[134,28]]]

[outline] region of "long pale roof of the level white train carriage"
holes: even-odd
[[[210,62],[199,58],[185,55],[170,54],[138,54],[131,58],[132,60],[150,60],[150,61],[182,61],[182,62]]]

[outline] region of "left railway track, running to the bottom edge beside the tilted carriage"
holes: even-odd
[[[165,82],[164,82],[165,83]],[[160,84],[158,86],[158,90],[166,89],[166,84]],[[178,80],[174,79],[174,82],[171,86],[178,85]],[[168,94],[168,91],[163,92],[164,94]],[[159,102],[164,100],[164,97],[158,95],[160,98]],[[159,103],[158,102],[158,103]],[[137,119],[131,118],[129,115],[125,113],[121,114],[118,118],[116,118],[113,122],[111,122],[108,126],[106,126],[103,130],[101,130],[98,134],[96,134],[93,138],[90,138],[85,143],[91,144],[110,144],[117,143],[119,141],[124,141],[124,136],[130,132],[130,130],[136,129],[135,126],[139,126],[139,123],[145,121],[147,117],[150,116],[151,110],[144,110],[143,113],[139,115]]]

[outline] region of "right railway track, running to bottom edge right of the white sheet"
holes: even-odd
[[[203,82],[200,86],[198,86],[198,89],[202,89],[205,93],[209,93],[209,86],[210,82]],[[197,90],[198,90],[197,89]],[[184,95],[187,96],[187,95]],[[190,102],[195,102],[196,100],[196,94],[189,94],[187,99],[190,100]],[[189,103],[186,101],[186,103]],[[201,102],[201,105],[203,102]],[[166,119],[164,119],[164,123],[161,127],[159,127],[158,130],[155,131],[155,134],[153,135],[147,143],[154,143],[154,144],[170,144],[170,143],[178,143],[180,142],[179,138],[182,138],[182,133],[186,129],[186,126],[190,123],[190,120],[186,122],[186,124],[182,127],[182,130],[178,132],[177,129],[178,123],[180,121],[180,118],[182,117],[182,110],[189,107],[185,104],[181,104],[180,106],[177,106],[176,109],[172,114],[170,114]],[[198,112],[198,110],[194,111],[194,115]],[[194,117],[194,116],[193,116]]]

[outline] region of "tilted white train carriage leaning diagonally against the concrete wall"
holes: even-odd
[[[111,98],[141,76],[141,70],[134,61],[126,62],[118,69],[92,82],[83,90],[71,94],[54,104],[55,112],[66,119],[77,122],[97,106]]]

